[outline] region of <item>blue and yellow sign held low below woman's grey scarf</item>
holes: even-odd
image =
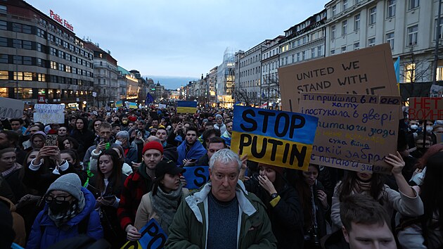
[[[138,241],[128,241],[121,249],[150,249],[165,246],[167,235],[155,219],[150,219],[139,232],[141,238]]]

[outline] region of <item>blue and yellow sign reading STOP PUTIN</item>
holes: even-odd
[[[255,162],[307,170],[317,117],[234,106],[233,120],[232,151]]]

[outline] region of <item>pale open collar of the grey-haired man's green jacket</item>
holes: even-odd
[[[185,198],[186,203],[188,203],[189,208],[191,208],[195,217],[200,223],[203,223],[203,215],[198,208],[198,204],[203,203],[203,205],[205,205],[205,210],[207,210],[207,195],[210,193],[211,189],[212,182],[208,181],[207,184],[200,189],[200,191],[195,192]],[[248,200],[246,197],[247,195],[248,191],[245,189],[245,184],[243,184],[243,181],[238,180],[236,187],[236,198],[238,200],[238,205],[240,206],[240,211],[244,212],[248,216],[251,216],[255,214],[257,210],[254,208],[252,203],[250,203],[250,200]]]

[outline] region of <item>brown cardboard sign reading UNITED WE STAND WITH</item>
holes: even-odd
[[[389,44],[278,68],[283,110],[299,110],[302,92],[399,96]]]

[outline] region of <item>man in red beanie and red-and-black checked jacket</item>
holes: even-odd
[[[139,169],[129,174],[120,195],[117,217],[120,226],[127,232],[129,241],[136,241],[141,234],[134,226],[137,209],[141,198],[152,189],[155,179],[155,166],[163,159],[163,146],[150,141],[143,146],[142,162]]]

